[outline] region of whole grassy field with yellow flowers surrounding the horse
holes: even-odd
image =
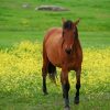
[[[24,9],[22,4],[29,3]],[[35,11],[41,4],[68,8],[66,12]],[[59,82],[47,78],[42,92],[42,41],[62,18],[80,18],[84,48],[80,103],[74,105],[75,73],[69,74],[72,110],[110,109],[110,1],[109,0],[0,0],[0,110],[63,110]]]

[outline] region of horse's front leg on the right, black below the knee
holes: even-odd
[[[81,69],[76,72],[76,96],[75,96],[75,103],[79,103],[79,89],[80,89],[80,73]]]

